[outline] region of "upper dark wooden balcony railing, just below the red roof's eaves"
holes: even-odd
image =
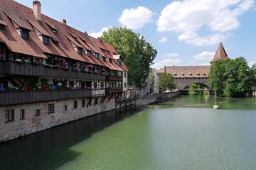
[[[80,79],[87,81],[105,81],[105,75],[90,74],[85,72],[68,71],[62,68],[50,68],[45,66],[38,66],[31,63],[21,64],[13,61],[0,62],[0,74],[3,72],[9,76],[35,76],[42,78],[53,79]],[[1,68],[2,71],[1,71]]]

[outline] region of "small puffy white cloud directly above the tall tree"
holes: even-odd
[[[134,9],[124,9],[122,16],[118,19],[119,23],[127,28],[138,30],[151,22],[151,17],[154,15],[148,8],[139,6]]]

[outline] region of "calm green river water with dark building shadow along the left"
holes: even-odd
[[[255,98],[191,95],[0,144],[0,169],[256,169],[255,144]]]

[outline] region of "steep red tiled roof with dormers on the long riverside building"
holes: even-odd
[[[119,70],[121,68],[121,70],[127,70],[123,63],[122,67],[118,67],[114,66],[115,63],[109,64],[100,59],[96,59],[93,56],[88,57],[85,52],[82,52],[81,55],[78,54],[70,42],[73,42],[73,44],[78,47],[82,47],[82,49],[91,50],[95,53],[100,54],[102,51],[100,48],[98,48],[98,50],[95,48],[87,33],[82,33],[80,30],[76,30],[59,21],[55,21],[53,18],[43,14],[41,14],[41,23],[38,23],[32,11],[31,8],[18,4],[16,1],[0,0],[0,22],[5,23],[8,26],[6,32],[0,31],[0,41],[4,42],[11,52],[44,58],[49,54],[110,67],[110,69]],[[29,33],[29,40],[21,38],[21,35],[17,33],[16,28],[14,28],[9,18],[14,21],[18,27],[31,30]],[[36,28],[42,35],[46,35],[54,41],[57,41],[58,45],[55,45],[53,40],[50,40],[49,45],[44,45],[33,28]],[[53,33],[52,28],[58,30],[57,33]],[[77,39],[74,40],[74,38]],[[112,51],[115,52],[114,47],[107,43],[103,43],[102,45],[105,45],[104,47],[111,53],[106,56],[112,58],[112,55],[114,55]]]

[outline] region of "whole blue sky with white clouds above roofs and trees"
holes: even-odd
[[[32,8],[32,2],[17,0]],[[254,0],[41,0],[41,11],[93,37],[111,26],[127,26],[157,50],[154,68],[209,65],[218,44],[228,57],[256,62]]]

